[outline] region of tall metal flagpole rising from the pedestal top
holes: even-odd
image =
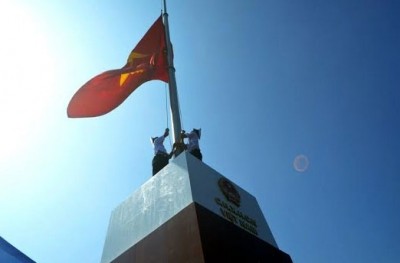
[[[167,42],[167,57],[168,57],[168,75],[169,75],[169,99],[170,99],[170,109],[171,109],[171,124],[172,124],[172,138],[173,143],[180,142],[180,134],[182,131],[181,127],[181,119],[180,119],[180,111],[179,111],[179,103],[178,103],[178,92],[176,87],[176,79],[175,79],[175,67],[172,55],[172,45],[169,36],[169,26],[168,26],[168,13],[167,13],[167,4],[166,0],[164,0],[164,26],[165,26],[165,38]],[[179,150],[179,148],[177,149]],[[175,156],[180,152],[175,153]]]

